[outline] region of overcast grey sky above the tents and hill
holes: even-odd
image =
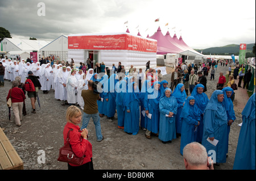
[[[40,2],[45,16],[38,15]],[[0,27],[13,38],[51,41],[62,34],[125,32],[126,26],[143,37],[159,26],[166,35],[169,28],[198,49],[255,43],[255,0],[0,0]]]

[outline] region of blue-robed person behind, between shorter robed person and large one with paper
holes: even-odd
[[[199,127],[197,128],[197,136],[196,136],[196,142],[202,142],[202,138],[203,138],[203,131],[204,131],[204,110],[205,107],[207,106],[207,103],[209,102],[208,96],[207,94],[205,94],[204,92],[204,85],[199,83],[197,84],[193,91],[191,92],[191,96],[193,96],[196,100],[196,105],[200,108],[201,110],[201,119],[200,119],[200,124]]]

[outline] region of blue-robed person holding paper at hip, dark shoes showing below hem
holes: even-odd
[[[156,81],[153,83],[147,94],[144,96],[145,119],[147,122],[146,137],[151,139],[151,133],[158,136],[159,132],[159,100],[163,93],[163,86],[161,82]],[[148,117],[150,116],[151,117]]]

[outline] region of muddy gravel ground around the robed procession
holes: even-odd
[[[170,70],[170,69],[168,69]],[[218,66],[214,81],[208,83],[206,92],[208,97],[216,89],[219,72],[228,71],[228,67]],[[171,74],[164,75],[170,82]],[[170,85],[170,84],[169,84]],[[39,91],[40,106],[36,102],[36,113],[31,113],[30,99],[26,95],[27,115],[23,116],[22,127],[16,127],[14,114],[11,112],[9,121],[6,106],[7,92],[11,82],[6,81],[5,87],[0,87],[0,127],[4,129],[11,144],[20,155],[26,170],[62,170],[67,169],[67,163],[58,162],[59,148],[63,146],[63,128],[66,124],[65,111],[68,106],[61,106],[60,101],[54,99],[54,91],[43,94]],[[189,94],[190,95],[190,94]],[[229,154],[226,163],[214,167],[218,170],[231,170],[237,148],[240,132],[238,124],[242,122],[241,111],[234,108],[237,120],[233,123],[229,136]],[[117,117],[117,115],[115,115]],[[129,135],[118,129],[117,120],[101,118],[101,129],[105,139],[96,141],[93,121],[88,125],[89,141],[92,143],[93,164],[96,170],[184,170],[183,157],[180,154],[180,137],[171,143],[163,144],[158,137],[152,136],[151,140],[145,137],[145,131],[139,130],[137,135]],[[45,153],[46,162],[39,163],[40,153]]]

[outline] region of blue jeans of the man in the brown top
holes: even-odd
[[[101,123],[100,123],[100,116],[98,113],[94,113],[92,115],[88,115],[84,112],[84,116],[82,116],[82,127],[81,130],[84,128],[87,128],[87,125],[89,123],[90,117],[93,119],[93,123],[95,125],[95,130],[96,130],[96,137],[97,141],[102,140],[102,134],[101,134]]]

